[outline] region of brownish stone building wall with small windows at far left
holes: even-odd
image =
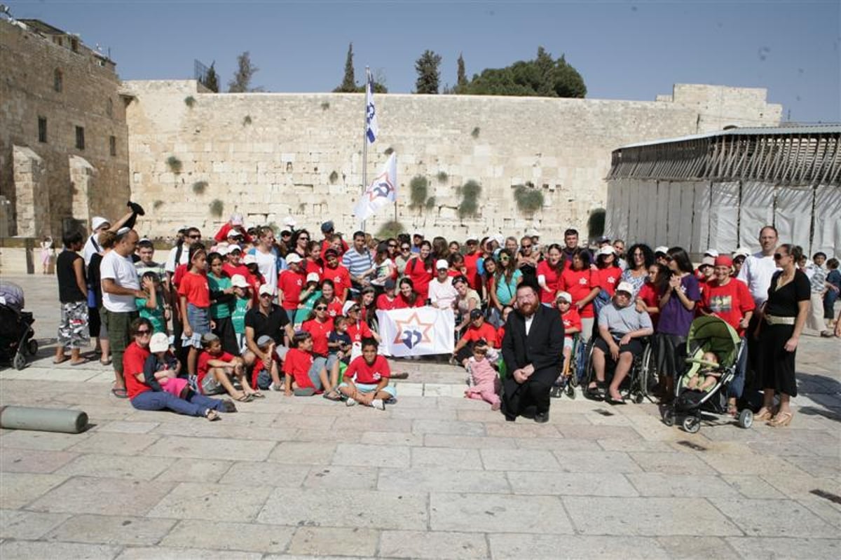
[[[74,51],[69,43],[59,45],[56,40],[61,38],[0,19],[0,195],[11,209],[9,227],[0,230],[0,236],[59,238],[71,217],[99,214],[116,219],[126,210],[128,128],[114,63],[81,43]],[[56,71],[61,72],[61,91],[55,88]],[[39,118],[46,119],[45,142],[39,139]],[[76,147],[77,126],[84,129],[84,149]],[[15,146],[43,160],[45,189],[31,202],[18,199]],[[84,158],[97,170],[97,183],[84,199],[71,182],[72,156]],[[30,204],[36,209],[27,208]],[[87,209],[85,215],[75,215],[80,209]],[[43,219],[31,223],[35,215]]]

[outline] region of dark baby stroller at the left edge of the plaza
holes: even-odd
[[[24,290],[15,283],[0,282],[0,360],[24,369],[25,353],[34,356],[38,352],[34,322],[32,314],[24,311]]]

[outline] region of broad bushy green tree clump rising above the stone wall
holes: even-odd
[[[547,98],[584,98],[587,87],[579,71],[563,55],[557,60],[537,48],[532,61],[516,61],[505,68],[487,68],[459,85],[458,93],[468,95],[513,95]]]

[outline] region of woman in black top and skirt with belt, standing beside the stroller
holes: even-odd
[[[809,279],[797,269],[802,252],[799,246],[787,243],[777,247],[774,260],[782,270],[771,277],[768,299],[762,309],[764,320],[759,327],[758,369],[764,401],[754,418],[768,420],[768,425],[778,427],[789,425],[793,417],[789,399],[797,396],[794,358],[809,313]],[[776,393],[780,394],[780,409],[772,418]]]

